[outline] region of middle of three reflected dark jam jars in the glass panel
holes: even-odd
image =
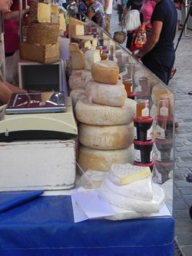
[[[156,146],[156,160],[170,163],[174,160],[174,144],[173,140],[154,140]]]

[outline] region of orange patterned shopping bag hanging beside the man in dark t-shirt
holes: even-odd
[[[142,24],[138,29],[133,32],[127,32],[127,45],[126,47],[130,52],[135,52],[142,48],[147,42],[146,27]]]

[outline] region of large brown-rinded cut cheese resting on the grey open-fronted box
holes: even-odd
[[[20,42],[19,52],[22,59],[31,62],[53,63],[58,62],[60,57],[60,45],[35,45]]]

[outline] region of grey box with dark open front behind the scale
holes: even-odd
[[[19,87],[27,91],[63,91],[61,61],[41,64],[22,60],[18,78]]]

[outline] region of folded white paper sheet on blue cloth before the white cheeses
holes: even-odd
[[[111,204],[103,197],[99,197],[97,193],[71,194],[71,200],[74,222],[84,221],[89,218],[103,218],[115,214]]]

